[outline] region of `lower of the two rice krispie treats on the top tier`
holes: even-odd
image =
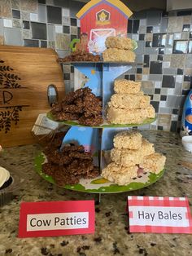
[[[103,61],[111,62],[134,62],[135,53],[129,50],[109,48],[103,51]]]

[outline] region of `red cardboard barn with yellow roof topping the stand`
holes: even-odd
[[[110,36],[127,37],[128,19],[132,11],[120,0],[91,0],[76,14],[81,20],[81,40],[86,50],[100,54]],[[81,42],[80,42],[81,44]]]

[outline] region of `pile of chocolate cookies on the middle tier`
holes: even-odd
[[[88,87],[70,92],[60,104],[52,106],[51,113],[56,121],[77,120],[85,126],[99,126],[103,123],[102,100]]]

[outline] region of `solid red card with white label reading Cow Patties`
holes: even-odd
[[[19,237],[94,233],[94,201],[23,202]]]

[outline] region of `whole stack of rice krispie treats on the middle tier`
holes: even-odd
[[[155,117],[150,96],[143,95],[141,82],[116,79],[115,94],[107,108],[107,121],[112,124],[141,124],[146,118]]]

